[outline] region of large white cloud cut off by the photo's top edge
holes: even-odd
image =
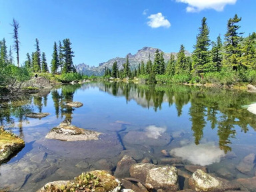
[[[225,5],[234,5],[237,0],[176,0],[176,2],[187,3],[187,12],[199,12],[203,9],[223,11]]]

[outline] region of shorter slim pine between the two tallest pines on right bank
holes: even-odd
[[[223,59],[223,45],[221,42],[221,36],[217,37],[216,42],[212,42],[211,58],[213,60],[213,70],[221,71],[222,59]]]

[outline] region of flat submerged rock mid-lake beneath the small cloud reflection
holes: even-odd
[[[131,131],[124,136],[123,142],[127,144],[163,146],[169,144],[171,139],[171,136],[165,133],[157,138],[151,138],[151,135],[147,132]]]

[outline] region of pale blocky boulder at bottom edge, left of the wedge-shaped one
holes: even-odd
[[[155,190],[179,191],[177,169],[165,166],[150,169],[147,173],[146,183],[153,186]]]

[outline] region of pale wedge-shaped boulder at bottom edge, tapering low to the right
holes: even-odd
[[[198,169],[189,178],[189,187],[195,191],[227,191],[239,190],[239,185],[219,177],[211,176],[201,169]]]

